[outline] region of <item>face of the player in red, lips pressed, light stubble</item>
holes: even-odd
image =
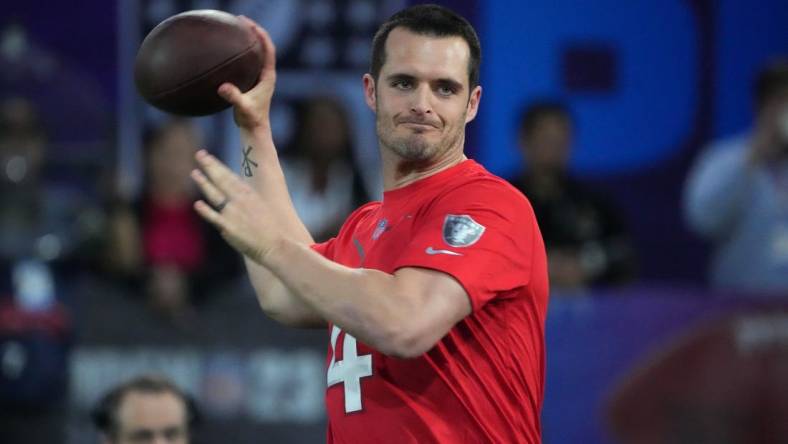
[[[405,161],[429,162],[462,149],[481,88],[470,90],[470,49],[460,37],[430,37],[395,28],[377,81],[364,76],[383,150]]]

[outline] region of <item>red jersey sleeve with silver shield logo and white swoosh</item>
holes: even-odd
[[[476,311],[529,284],[535,248],[544,250],[525,196],[505,184],[482,181],[433,202],[414,222],[411,241],[394,269],[422,267],[451,275]]]

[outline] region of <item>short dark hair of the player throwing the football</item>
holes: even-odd
[[[394,28],[405,28],[418,35],[431,37],[461,37],[468,44],[468,80],[470,87],[479,84],[479,65],[482,48],[473,26],[454,11],[438,5],[415,5],[392,15],[380,25],[372,39],[372,61],[370,73],[377,81],[383,64],[386,63],[386,40]]]

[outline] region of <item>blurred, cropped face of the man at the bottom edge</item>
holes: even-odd
[[[118,408],[113,444],[187,444],[186,406],[172,393],[130,392]]]

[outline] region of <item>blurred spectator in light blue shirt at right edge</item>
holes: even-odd
[[[718,288],[788,294],[788,59],[775,60],[753,88],[755,121],[713,142],[690,171],[689,225],[715,245]]]

